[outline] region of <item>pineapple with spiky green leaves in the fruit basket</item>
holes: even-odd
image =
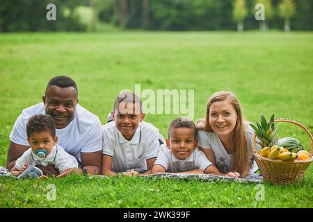
[[[250,123],[250,126],[255,131],[255,134],[257,135],[257,144],[261,146],[262,148],[268,146],[271,147],[276,144],[276,131],[278,129],[278,126],[274,126],[274,114],[272,115],[271,119],[269,121],[266,121],[264,115],[261,114],[260,116],[260,123],[257,123],[257,126]]]

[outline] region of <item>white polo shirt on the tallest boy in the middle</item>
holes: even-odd
[[[104,155],[113,157],[112,171],[123,172],[128,169],[147,170],[147,160],[157,157],[159,152],[159,130],[151,123],[142,121],[131,138],[125,139],[115,126],[115,121],[103,126]]]

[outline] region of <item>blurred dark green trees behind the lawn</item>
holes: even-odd
[[[233,19],[235,0],[1,0],[0,31],[87,31],[98,24],[112,24],[120,28],[167,31],[235,30]],[[266,0],[273,8],[269,27],[284,28],[279,5],[283,0]],[[248,15],[245,29],[257,29],[255,3],[264,0],[246,0]],[[55,3],[56,22],[48,22],[45,15],[48,3]],[[313,30],[313,1],[294,1],[296,12],[291,19],[292,30]],[[94,7],[90,7],[94,6]],[[79,8],[91,10],[96,19],[88,19]],[[267,5],[266,5],[267,7]],[[271,13],[272,14],[272,13]],[[268,17],[269,19],[269,17]],[[100,29],[101,30],[101,29]]]

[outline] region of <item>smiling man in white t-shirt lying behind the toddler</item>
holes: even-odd
[[[77,85],[67,76],[52,78],[46,88],[42,103],[23,110],[10,133],[7,168],[12,169],[15,161],[29,148],[26,122],[34,114],[49,114],[56,124],[58,143],[81,163],[80,169],[67,169],[63,173],[53,166],[41,167],[42,171],[63,177],[72,171],[78,174],[98,174],[102,161],[102,124],[99,118],[78,104]]]

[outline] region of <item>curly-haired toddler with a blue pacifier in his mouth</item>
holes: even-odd
[[[29,148],[17,159],[10,173],[20,176],[29,166],[54,165],[60,173],[65,169],[78,168],[77,159],[56,145],[58,137],[53,119],[47,114],[34,115],[26,124]]]

